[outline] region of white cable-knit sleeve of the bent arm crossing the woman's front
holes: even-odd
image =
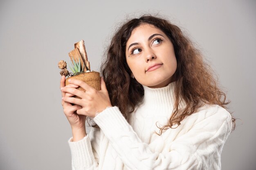
[[[217,159],[231,131],[229,112],[223,108],[215,109],[215,113],[201,112],[186,119],[191,119],[190,129],[167,144],[168,150],[163,153],[150,149],[141,141],[118,107],[105,109],[94,118],[94,122],[130,169],[220,169],[220,160]],[[156,142],[154,144],[157,146]]]

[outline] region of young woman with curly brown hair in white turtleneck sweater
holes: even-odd
[[[101,73],[101,91],[61,78],[73,170],[221,168],[235,119],[180,28],[150,15],[129,20],[113,36]],[[89,134],[87,116],[96,123]]]

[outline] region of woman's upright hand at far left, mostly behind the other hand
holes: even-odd
[[[62,87],[74,89],[79,86],[74,85],[74,84],[69,84],[69,85],[65,86],[65,76],[62,76],[60,88],[62,88]],[[61,94],[62,94],[62,97],[65,97],[65,98],[74,96],[74,94],[70,94],[70,93],[66,93],[66,92],[61,92]],[[78,115],[76,113],[76,110],[82,109],[82,107],[79,105],[72,105],[70,102],[65,102],[64,100],[62,100],[61,104],[63,106],[63,111],[65,113],[65,116],[67,117],[67,120],[70,122],[72,130],[83,129],[83,131],[85,131],[86,116]]]

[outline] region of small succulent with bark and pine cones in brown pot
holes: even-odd
[[[68,79],[74,78],[77,80],[81,80],[88,85],[92,86],[94,89],[101,90],[101,78],[100,73],[90,70],[90,62],[88,61],[87,53],[85,51],[84,41],[81,40],[74,44],[75,49],[69,52],[70,69],[73,73],[67,70],[67,63],[64,60],[58,62],[58,68],[61,69],[61,76],[65,75],[66,81],[65,85],[68,85]],[[82,87],[78,87],[77,89],[85,92],[85,89]],[[79,98],[78,96],[74,96],[75,98]]]

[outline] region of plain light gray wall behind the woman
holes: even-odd
[[[61,59],[84,39],[92,70],[119,22],[159,13],[186,31],[219,76],[237,120],[222,169],[256,169],[255,0],[1,0],[0,169],[70,170],[72,136],[59,89]]]

